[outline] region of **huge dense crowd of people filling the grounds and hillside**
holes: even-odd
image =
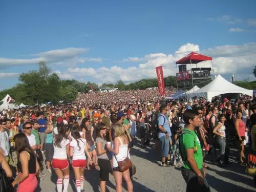
[[[173,165],[172,148],[179,142],[187,191],[210,190],[203,162],[207,153],[225,167],[230,144],[238,148],[240,164],[246,163],[245,145],[256,152],[256,105],[249,97],[185,102],[165,101],[157,90],[97,92],[78,94],[70,104],[29,106],[0,115],[0,162],[17,191],[35,191],[45,172],[56,174],[57,191],[67,191],[70,170],[77,191],[84,191],[84,169],[99,169],[101,191],[110,174],[116,191],[122,191],[123,180],[133,191],[133,167],[121,171],[119,164],[131,159],[136,136],[142,148],[155,141],[163,167]]]

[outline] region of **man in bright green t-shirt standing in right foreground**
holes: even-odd
[[[203,170],[203,154],[195,132],[201,119],[197,111],[187,110],[183,115],[186,128],[180,137],[180,153],[184,165],[182,176],[187,183],[186,191],[210,191]]]

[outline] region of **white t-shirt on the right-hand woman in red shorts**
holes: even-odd
[[[77,141],[79,142],[79,146],[81,147],[80,150],[77,145]],[[73,147],[73,149],[74,149],[73,160],[86,159],[86,154],[84,153],[84,148],[86,147],[86,139],[80,138],[80,139],[77,139],[77,141],[75,139],[73,139],[70,142],[70,146]]]

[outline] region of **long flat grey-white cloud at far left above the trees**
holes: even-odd
[[[0,57],[0,68],[7,68],[10,66],[17,65],[29,65],[38,63],[40,61],[46,61],[52,65],[71,65],[74,66],[76,63],[84,62],[99,62],[102,63],[104,58],[93,58],[93,57],[78,57],[82,53],[88,52],[89,49],[85,48],[66,48],[51,50],[36,54],[31,54],[32,56],[38,56],[37,58],[31,59],[11,59],[11,58],[1,58]]]

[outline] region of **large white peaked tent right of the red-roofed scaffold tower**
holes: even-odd
[[[202,87],[201,89],[188,94],[188,99],[192,97],[204,97],[207,101],[211,101],[212,97],[225,93],[241,93],[245,95],[252,96],[252,90],[247,90],[236,86],[235,84],[227,81],[221,75],[218,75],[209,84]]]

